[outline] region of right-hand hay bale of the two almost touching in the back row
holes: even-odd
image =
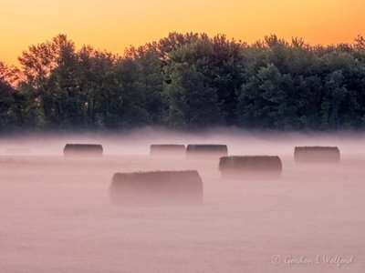
[[[186,158],[216,158],[228,155],[226,145],[190,144],[186,147]]]

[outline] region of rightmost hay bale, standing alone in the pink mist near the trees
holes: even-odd
[[[296,147],[294,158],[297,163],[339,163],[338,147]]]

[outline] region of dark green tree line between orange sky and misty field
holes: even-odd
[[[0,62],[0,131],[124,129],[347,130],[365,126],[365,39],[308,45],[268,35],[171,33],[123,56],[67,35]]]

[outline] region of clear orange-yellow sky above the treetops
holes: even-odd
[[[365,35],[364,12],[364,0],[0,0],[0,60],[16,65],[28,45],[59,33],[120,54],[172,31],[351,42]]]

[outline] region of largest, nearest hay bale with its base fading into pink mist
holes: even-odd
[[[110,202],[115,205],[198,205],[203,182],[196,170],[114,174]]]

